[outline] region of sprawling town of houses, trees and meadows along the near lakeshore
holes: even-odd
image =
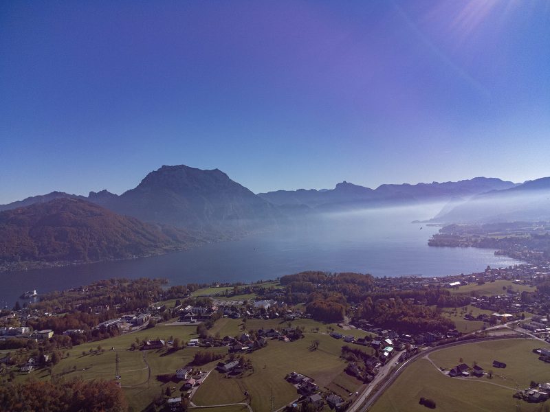
[[[18,301],[12,310],[3,310],[0,371],[6,382],[43,371],[56,379],[76,374],[78,366],[59,371],[58,365],[67,363],[69,350],[78,352],[78,347],[87,348],[81,353],[87,360],[105,352],[115,352],[117,360],[127,356],[124,352],[148,352],[149,359],[188,352],[186,363],[156,376],[166,389],[162,398],[155,398],[153,409],[180,410],[202,404],[206,389],[201,387],[245,382],[259,374],[262,353],[271,357],[273,345],[278,350],[281,344],[307,342],[311,356],[330,345],[334,359],[343,362],[342,373],[331,382],[318,382],[309,368],[285,371],[295,392],[279,407],[355,410],[364,402],[366,388],[380,385],[401,363],[438,347],[529,337],[538,339],[540,345],[533,350],[537,361],[547,365],[549,279],[549,263],[540,261],[433,278],[306,272],[248,285],[170,287],[162,279],[111,279],[23,306]],[[384,317],[386,312],[395,316]],[[500,335],[502,328],[509,336]],[[123,352],[109,343],[121,339],[126,342]],[[500,361],[490,366],[499,367]],[[94,363],[87,367],[93,369]],[[444,373],[492,378],[494,372],[484,367],[460,363]],[[126,390],[125,374],[114,369],[115,382]],[[252,385],[241,392],[241,403],[261,410]],[[517,397],[542,402],[548,394],[548,382],[540,382],[518,391]]]

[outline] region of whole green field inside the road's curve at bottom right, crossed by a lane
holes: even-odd
[[[547,364],[538,361],[531,352],[540,347],[540,341],[510,339],[503,341],[469,343],[432,352],[430,359],[447,369],[460,363],[460,358],[472,366],[474,361],[485,370],[493,369],[495,377],[457,379],[443,376],[428,360],[412,363],[371,408],[371,412],[426,412],[419,399],[430,398],[437,404],[436,411],[503,411],[516,412],[515,382],[520,389],[529,386],[531,379],[546,382]],[[507,363],[505,369],[492,367],[497,359]],[[496,384],[496,385],[494,385]],[[505,387],[512,389],[507,389]],[[520,402],[521,411],[542,410],[540,404]]]

